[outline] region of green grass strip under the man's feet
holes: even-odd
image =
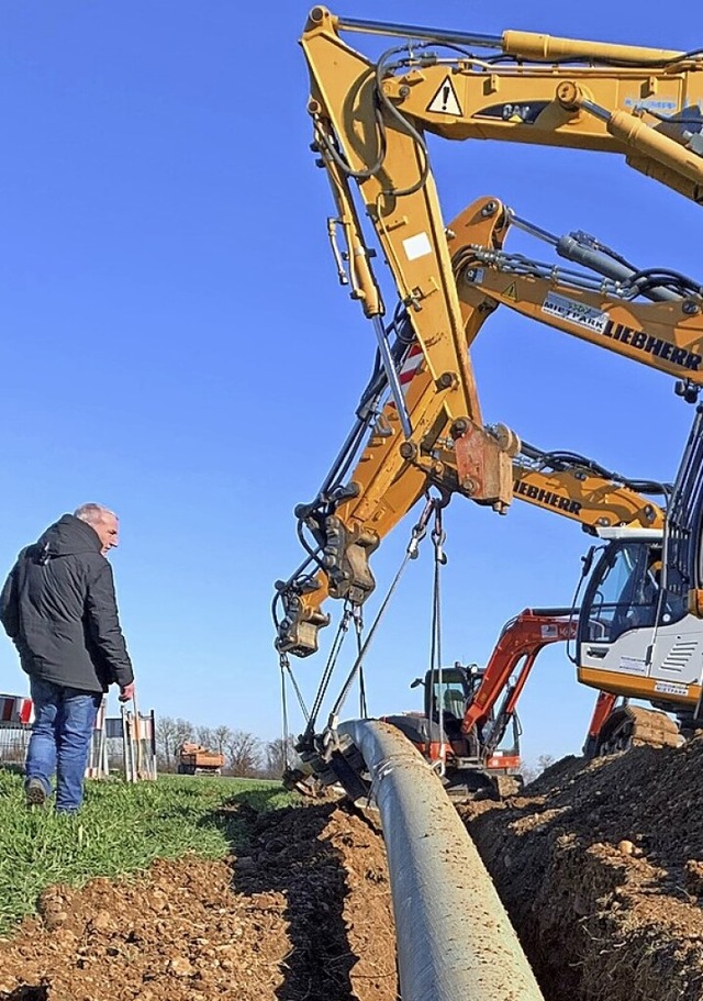
[[[26,810],[22,779],[0,772],[0,932],[32,913],[42,890],[145,869],[156,858],[221,858],[246,848],[246,824],[225,803],[257,811],[294,801],[278,782],[165,777],[129,786],[88,782],[78,816]]]

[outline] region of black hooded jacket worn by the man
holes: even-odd
[[[0,596],[0,621],[27,675],[92,692],[134,680],[112,568],[100,549],[89,524],[64,514],[20,553]]]

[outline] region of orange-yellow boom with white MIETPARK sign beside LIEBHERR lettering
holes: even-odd
[[[565,334],[588,341],[680,380],[679,391],[695,398],[703,385],[703,289],[700,285],[667,269],[638,270],[626,267],[610,252],[585,246],[593,237],[577,234],[558,238],[521,221],[521,225],[573,259],[582,259],[603,270],[607,266],[620,277],[607,279],[589,271],[559,268],[523,254],[507,254],[502,244],[482,245],[477,238],[486,229],[486,216],[495,215],[503,240],[514,213],[496,198],[480,198],[449,224],[449,246],[467,346],[478,332],[475,321],[498,305],[537,320]],[[614,265],[617,265],[615,267]],[[639,298],[636,298],[639,297]],[[643,297],[655,301],[644,301]]]

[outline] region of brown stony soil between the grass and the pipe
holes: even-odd
[[[247,821],[246,856],[44,893],[38,916],[0,943],[0,997],[394,1001],[379,834],[335,804]]]

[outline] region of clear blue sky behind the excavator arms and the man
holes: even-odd
[[[602,0],[336,10],[492,34],[701,43],[682,0],[666,16]],[[306,12],[292,0],[260,11],[4,0],[0,13],[0,568],[64,511],[112,507],[141,705],[265,739],[280,731],[269,604],[272,581],[300,558],[292,509],[336,455],[373,353],[326,241],[332,204],[309,151],[297,45]],[[698,273],[699,210],[623,160],[431,148],[447,220],[496,194],[546,229],[585,229],[643,266]],[[473,362],[487,421],[633,476],[673,476],[692,413],[667,377],[501,311]],[[369,621],[412,523],[375,557]],[[570,602],[588,548],[578,526],[518,502],[500,519],[457,499],[446,527],[447,661],[484,660],[522,608]],[[375,713],[416,708],[408,686],[427,667],[428,557],[408,571],[369,654]],[[323,657],[297,665],[308,696]],[[2,639],[0,689],[23,688]],[[546,650],[522,700],[525,756],[578,753],[593,698],[563,649]]]

